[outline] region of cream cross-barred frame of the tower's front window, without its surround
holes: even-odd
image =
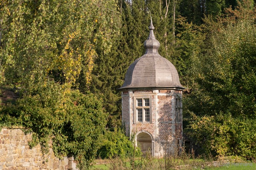
[[[138,99],[142,99],[142,106],[138,106]],[[145,99],[149,99],[149,106],[145,106]],[[145,117],[145,109],[149,109],[149,121],[146,121]],[[138,121],[138,110],[142,109],[142,121]],[[151,96],[138,96],[134,97],[134,123],[135,124],[144,124],[144,123],[152,123],[151,122]]]

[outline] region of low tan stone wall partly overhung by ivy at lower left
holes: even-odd
[[[0,132],[1,170],[71,170],[76,169],[73,157],[62,160],[54,156],[52,148],[48,154],[41,152],[40,144],[29,148],[31,134],[25,135],[22,127],[2,128]],[[51,143],[50,143],[51,146]]]

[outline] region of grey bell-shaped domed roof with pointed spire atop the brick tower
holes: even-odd
[[[178,88],[184,89],[174,65],[158,54],[160,46],[153,30],[152,18],[149,28],[148,39],[144,42],[146,52],[137,58],[128,68],[124,84],[119,89],[132,88]]]

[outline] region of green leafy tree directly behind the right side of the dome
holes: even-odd
[[[188,23],[186,18],[176,19],[175,44],[172,46],[172,57],[169,59],[179,73],[180,82],[189,92],[195,83],[196,65],[199,54],[203,51],[205,35],[200,26]]]

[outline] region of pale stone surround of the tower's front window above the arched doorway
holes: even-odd
[[[133,97],[133,106],[134,106],[134,120],[133,123],[134,124],[148,124],[148,123],[152,123],[152,113],[151,113],[151,94],[135,94]],[[142,99],[142,107],[141,106],[137,106],[137,99]],[[149,106],[144,106],[144,99],[149,99]],[[142,122],[138,121],[138,115],[137,115],[137,108],[142,108]],[[145,111],[144,108],[149,108],[149,122],[145,121]]]

